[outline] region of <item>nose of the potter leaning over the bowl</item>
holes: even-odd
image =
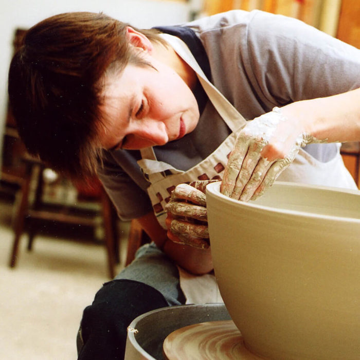
[[[169,141],[165,123],[156,119],[141,119],[132,135],[136,145],[141,147],[164,145]]]

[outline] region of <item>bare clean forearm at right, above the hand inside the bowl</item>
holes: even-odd
[[[360,141],[360,88],[325,98],[303,100],[281,108],[296,118],[303,133],[326,142]]]

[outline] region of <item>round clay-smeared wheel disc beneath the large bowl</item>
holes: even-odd
[[[232,320],[208,321],[177,329],[164,341],[168,360],[260,359],[249,352]]]

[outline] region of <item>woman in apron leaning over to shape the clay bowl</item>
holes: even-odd
[[[153,240],[84,310],[82,359],[121,358],[146,311],[220,300],[206,218],[178,210],[189,199],[196,217],[205,196],[178,184],[223,178],[245,201],[276,178],[355,188],[329,142],[360,139],[359,50],[260,11],[158,31],[62,14],[30,29],[10,66],[29,151],[72,176],[97,171],[120,218]]]

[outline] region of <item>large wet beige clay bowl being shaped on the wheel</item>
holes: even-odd
[[[219,289],[251,352],[360,358],[360,191],[276,183],[254,202],[207,186]]]

